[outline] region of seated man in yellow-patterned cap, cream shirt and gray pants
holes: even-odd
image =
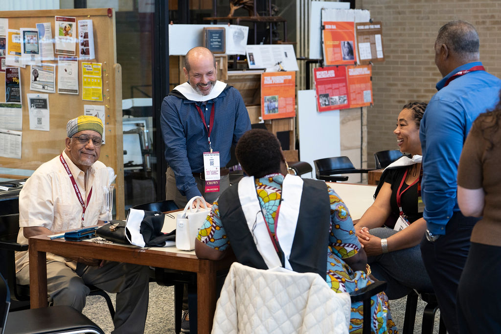
[[[94,116],[79,116],[66,126],[66,148],[42,164],[26,181],[19,196],[18,242],[30,236],[103,224],[108,219],[103,186],[106,166],[97,161],[103,143],[103,123]],[[28,252],[17,252],[19,284],[30,283]],[[148,268],[92,258],[64,258],[47,253],[47,289],[54,305],[79,311],[95,285],[116,292],[113,333],[142,333],[148,309]]]

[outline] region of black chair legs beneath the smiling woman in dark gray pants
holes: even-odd
[[[417,309],[417,299],[418,296],[426,302],[426,306],[423,311],[423,322],[421,326],[422,334],[432,334],[433,325],[435,322],[435,313],[438,309],[438,302],[434,293],[420,292],[412,290],[407,295],[407,301],[405,305],[405,315],[404,315],[404,327],[402,330],[403,334],[414,333],[414,322],[416,319],[416,309]],[[438,327],[439,334],[445,334],[446,328],[443,322],[442,316],[440,315],[440,324]]]

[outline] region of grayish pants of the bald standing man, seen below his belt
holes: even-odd
[[[186,203],[188,203],[189,198],[186,198],[186,196],[181,195],[179,190],[176,187],[176,178],[174,176],[174,171],[172,168],[167,168],[166,172],[167,176],[167,182],[165,184],[165,199],[166,200],[173,200],[178,208],[184,208],[186,206]],[[202,194],[203,198],[205,200],[212,204],[217,197],[226,189],[229,187],[229,175],[224,175],[221,176],[221,181],[219,182],[219,191],[218,192],[204,192],[205,188],[205,181],[201,180],[198,177],[195,177],[196,185],[198,187],[198,190]]]

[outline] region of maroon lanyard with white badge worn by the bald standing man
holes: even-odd
[[[205,179],[205,192],[218,192],[219,191],[219,181],[221,179],[221,167],[219,160],[219,152],[213,152],[210,143],[210,133],[214,126],[214,103],[212,104],[212,109],[210,111],[209,126],[205,123],[205,117],[203,116],[202,110],[199,106],[195,105],[202,119],[205,130],[207,130],[207,140],[209,143],[209,152],[203,152],[203,173]],[[207,108],[205,107],[205,110]]]

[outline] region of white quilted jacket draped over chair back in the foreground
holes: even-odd
[[[213,334],[348,333],[350,296],[316,273],[234,262],[217,300]]]

